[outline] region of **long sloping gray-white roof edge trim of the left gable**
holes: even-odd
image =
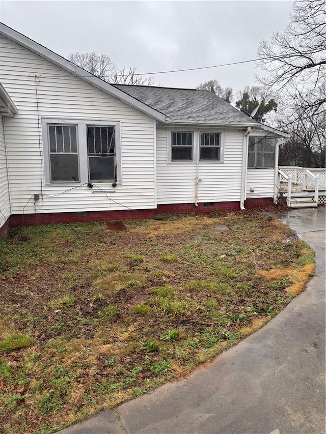
[[[125,92],[120,91],[119,89],[115,88],[111,84],[106,83],[106,81],[103,81],[98,77],[95,77],[93,74],[89,73],[83,68],[79,68],[78,66],[64,59],[64,57],[61,57],[59,54],[49,50],[46,47],[43,47],[43,45],[40,45],[37,42],[33,41],[32,39],[22,35],[21,33],[16,32],[11,27],[8,27],[3,23],[0,23],[0,35],[34,52],[40,57],[43,57],[43,59],[47,60],[48,62],[51,62],[52,64],[59,66],[61,69],[86,81],[87,83],[92,84],[95,88],[147,114],[149,117],[156,119],[157,121],[160,122],[165,122],[166,120],[165,114],[160,113],[159,111],[131,97]]]

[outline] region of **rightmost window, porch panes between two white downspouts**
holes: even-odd
[[[249,137],[248,168],[274,168],[275,146],[276,138],[274,137]]]

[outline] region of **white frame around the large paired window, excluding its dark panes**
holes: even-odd
[[[115,129],[115,152],[116,152],[116,184],[122,185],[122,160],[121,160],[121,125],[117,121],[103,121],[96,119],[62,119],[62,118],[43,118],[42,141],[44,159],[44,179],[45,185],[81,185],[89,182],[88,150],[87,150],[87,127],[101,126],[113,127]],[[51,182],[50,176],[50,143],[48,137],[48,125],[76,125],[77,126],[77,151],[78,151],[78,170],[79,182],[76,181],[55,181]],[[112,182],[93,182],[93,184],[111,185]]]

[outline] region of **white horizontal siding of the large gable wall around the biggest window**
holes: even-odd
[[[0,79],[18,108],[15,117],[6,120],[13,214],[35,213],[35,208],[37,213],[53,213],[155,207],[153,119],[3,37],[0,60]],[[46,118],[94,125],[119,122],[122,185],[98,183],[104,192],[87,185],[69,190],[72,183],[44,185],[41,120]],[[32,197],[41,188],[43,200],[34,207]]]

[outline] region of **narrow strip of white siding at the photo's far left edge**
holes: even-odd
[[[3,120],[5,121],[0,114],[0,227],[6,223],[10,216],[9,184]]]

